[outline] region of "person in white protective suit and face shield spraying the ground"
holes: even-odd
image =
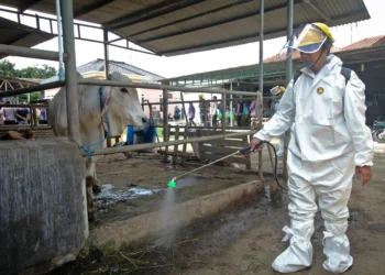
[[[289,246],[272,265],[280,273],[311,265],[318,207],[324,220],[323,268],[343,273],[353,264],[345,235],[348,201],[354,173],[363,186],[372,178],[373,140],[365,127],[365,86],[354,72],[342,75],[341,59],[330,54],[333,42],[322,23],[301,26],[287,42],[282,55],[299,51],[301,75],[290,80],[278,112],[250,144],[257,152],[261,141],[282,135],[295,122],[287,158],[290,227],[283,229]]]

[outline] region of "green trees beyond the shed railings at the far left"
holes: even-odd
[[[16,77],[16,78],[33,78],[33,79],[46,79],[57,75],[57,70],[46,64],[34,65],[22,69],[16,69],[15,64],[10,61],[0,61],[0,76]],[[30,100],[37,100],[40,98],[40,91],[32,92]],[[26,95],[19,96],[19,101],[23,102],[28,100]]]

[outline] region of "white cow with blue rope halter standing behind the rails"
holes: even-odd
[[[78,77],[81,76],[78,74]],[[110,80],[132,82],[120,73],[109,75]],[[48,105],[50,124],[56,135],[68,135],[66,89],[62,88]],[[147,118],[141,108],[135,88],[77,86],[79,100],[79,124],[81,147],[88,150],[101,148],[105,132],[118,136],[127,125],[142,127]],[[88,145],[91,145],[88,147]],[[95,162],[98,157],[88,157],[86,162],[86,189],[88,218],[94,219],[92,191],[99,193]]]

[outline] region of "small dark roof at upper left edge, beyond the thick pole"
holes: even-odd
[[[55,35],[36,31],[28,25],[19,25],[16,22],[0,18],[0,44],[33,47],[45,41],[52,40]],[[4,58],[7,55],[0,55],[0,58]]]

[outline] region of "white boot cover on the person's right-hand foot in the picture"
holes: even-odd
[[[350,255],[350,242],[345,235],[348,221],[339,221],[331,223],[324,221],[323,231],[323,254],[327,260],[322,266],[331,273],[344,273],[353,265],[353,257]]]

